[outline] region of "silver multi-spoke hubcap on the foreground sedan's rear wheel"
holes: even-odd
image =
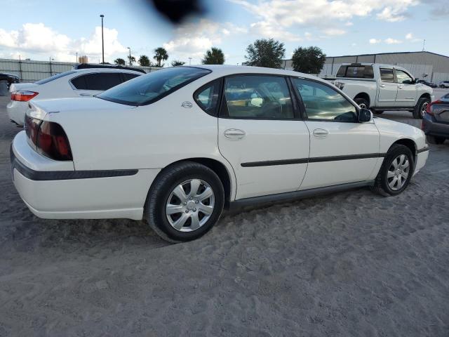
[[[177,185],[167,199],[168,223],[180,232],[192,232],[209,220],[214,205],[213,190],[206,181],[186,180]]]

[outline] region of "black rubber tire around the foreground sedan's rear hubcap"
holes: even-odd
[[[213,190],[215,204],[210,218],[206,223],[191,232],[181,232],[172,227],[168,222],[166,203],[175,187],[189,179],[200,179],[206,182]],[[148,193],[144,218],[150,227],[166,241],[187,242],[202,237],[217,223],[224,204],[225,190],[217,174],[208,167],[194,161],[183,161],[168,166],[156,177]]]

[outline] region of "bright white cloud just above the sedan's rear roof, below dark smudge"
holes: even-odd
[[[206,50],[221,44],[224,37],[232,34],[246,33],[247,29],[232,23],[218,24],[210,20],[189,22],[175,31],[175,37],[163,44],[170,58],[185,60],[193,58],[198,63]]]

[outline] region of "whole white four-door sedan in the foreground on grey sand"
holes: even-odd
[[[298,72],[172,67],[83,100],[32,103],[15,136],[15,187],[40,218],[145,220],[201,237],[222,209],[370,186],[403,192],[429,149]]]

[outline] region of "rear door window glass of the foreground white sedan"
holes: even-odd
[[[235,76],[225,79],[227,112],[231,118],[291,119],[293,105],[284,77]]]

